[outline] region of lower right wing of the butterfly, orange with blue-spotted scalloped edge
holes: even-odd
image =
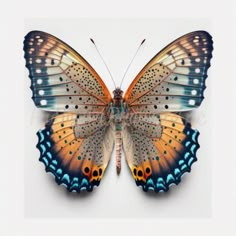
[[[125,157],[138,186],[144,191],[166,192],[171,184],[181,181],[184,173],[191,171],[197,160],[199,132],[173,113],[143,118],[149,122],[141,124],[140,119],[133,117],[135,125],[124,126]],[[151,132],[147,130],[145,134],[138,126],[148,126]]]

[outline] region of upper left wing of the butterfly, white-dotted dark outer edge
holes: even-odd
[[[24,51],[33,100],[47,111],[101,112],[111,95],[96,71],[58,38],[32,31]]]

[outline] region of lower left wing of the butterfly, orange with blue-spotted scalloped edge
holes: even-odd
[[[114,137],[102,119],[97,115],[64,113],[37,133],[40,161],[69,191],[92,191],[104,175]]]

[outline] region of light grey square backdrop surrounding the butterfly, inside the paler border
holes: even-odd
[[[181,19],[105,19],[105,20],[33,20],[27,19],[25,32],[40,29],[57,35],[76,48],[101,75],[110,91],[114,85],[105,66],[90,42],[92,37],[101,49],[115,82],[120,84],[123,73],[143,37],[145,45],[135,58],[123,83],[124,91],[142,67],[164,46],[193,30],[211,32],[207,20]],[[171,28],[175,26],[174,30]],[[212,69],[213,68],[213,69]],[[211,80],[209,70],[206,99],[194,114],[193,126],[200,130],[199,161],[191,175],[183,177],[179,187],[167,194],[143,193],[136,187],[122,157],[122,172],[116,175],[115,152],[101,185],[93,193],[70,194],[58,187],[44,165],[38,162],[38,141],[35,133],[44,126],[47,114],[34,107],[29,89],[30,80],[25,69],[25,216],[26,217],[210,217],[211,216]]]

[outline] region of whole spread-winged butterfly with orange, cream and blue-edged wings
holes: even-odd
[[[39,160],[68,191],[92,191],[115,146],[122,147],[137,184],[166,192],[197,160],[199,132],[177,112],[200,106],[213,41],[188,33],[157,53],[123,95],[113,96],[93,67],[60,39],[41,31],[25,36],[26,67],[36,107],[53,112],[37,132]]]

